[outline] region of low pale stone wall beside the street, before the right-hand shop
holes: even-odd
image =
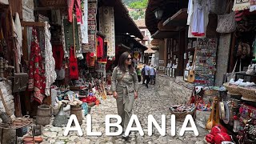
[[[160,98],[162,95],[173,97],[174,104],[189,102],[193,85],[188,82],[177,81],[165,75],[158,75],[156,87]]]

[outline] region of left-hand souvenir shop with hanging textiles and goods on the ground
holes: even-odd
[[[65,126],[71,114],[82,124],[90,108],[106,99],[111,58],[106,35],[97,30],[97,2],[85,2],[68,4],[67,10],[66,1],[38,1],[35,22],[23,21],[0,2],[1,134],[17,130],[22,136],[34,126],[40,135],[39,127],[52,116],[53,126]]]

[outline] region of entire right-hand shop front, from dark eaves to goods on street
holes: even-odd
[[[193,114],[196,124],[210,131],[205,142],[254,143],[255,4],[196,2],[191,0],[170,13],[149,1],[147,26],[153,38],[165,42],[165,46],[159,45],[164,49],[165,55],[161,58],[160,53],[159,59],[164,60],[165,70],[158,74],[158,93],[174,97],[178,103],[170,106],[170,114],[177,118]],[[194,15],[198,5],[206,21]],[[163,18],[153,20],[150,11],[159,9]]]

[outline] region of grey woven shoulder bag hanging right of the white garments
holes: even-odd
[[[230,8],[230,14],[226,14]],[[226,6],[225,14],[218,15],[218,33],[232,33],[236,30],[235,12],[231,10],[231,1]]]

